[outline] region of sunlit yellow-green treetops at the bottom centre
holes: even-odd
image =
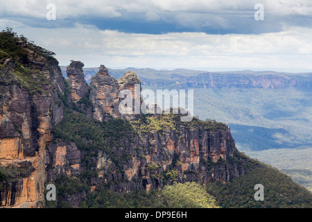
[[[168,208],[216,208],[216,200],[196,182],[166,185],[160,191],[162,207]]]

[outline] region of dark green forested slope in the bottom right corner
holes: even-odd
[[[264,187],[264,200],[254,200],[254,185]],[[223,184],[220,181],[207,184],[209,194],[216,197],[220,207],[311,207],[312,194],[297,185],[291,178],[268,165],[254,167],[244,176]]]

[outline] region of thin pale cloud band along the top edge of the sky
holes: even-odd
[[[256,3],[263,3],[265,11],[272,16],[303,15],[312,14],[312,1],[310,0],[0,0],[1,17],[24,16],[34,18],[44,18],[46,15],[46,5],[54,3],[57,10],[58,19],[77,18],[81,16],[94,15],[98,17],[120,17],[123,12],[144,12],[150,18],[160,12],[196,12],[196,13],[236,13],[250,15],[254,12]],[[170,15],[170,14],[166,14]],[[174,16],[174,14],[171,13]]]

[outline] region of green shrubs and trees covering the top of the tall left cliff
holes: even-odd
[[[31,56],[31,53],[34,54]],[[53,74],[52,65],[58,65],[54,55],[53,52],[29,42],[26,37],[18,36],[12,28],[6,28],[0,32],[0,83],[17,83],[31,95],[46,93],[44,85],[51,85],[46,71]],[[36,58],[39,58],[40,65],[34,63]],[[40,70],[40,66],[44,70]],[[5,67],[10,67],[11,73]]]

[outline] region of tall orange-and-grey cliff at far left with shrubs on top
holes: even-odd
[[[0,205],[41,207],[44,203],[44,149],[53,124],[62,121],[57,90],[64,80],[55,60],[21,46],[24,60],[6,58],[0,70],[0,164],[10,177],[0,191]],[[37,89],[37,91],[34,91]]]

